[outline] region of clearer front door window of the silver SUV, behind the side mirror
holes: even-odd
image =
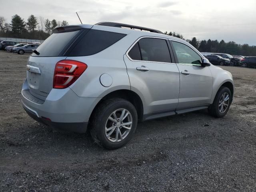
[[[202,58],[189,46],[183,43],[172,41],[174,50],[178,57],[178,62],[182,64],[195,64],[201,65]]]

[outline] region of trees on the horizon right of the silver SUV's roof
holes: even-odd
[[[184,37],[176,32],[165,32],[164,34],[181,38]],[[198,49],[200,52],[212,52],[212,53],[227,53],[231,55],[242,55],[242,56],[256,56],[256,46],[249,46],[248,44],[237,44],[234,41],[225,42],[221,40],[198,40],[193,37],[191,40],[187,39],[192,46]]]

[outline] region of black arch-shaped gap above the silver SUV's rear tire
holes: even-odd
[[[90,122],[91,117],[93,116],[96,108],[98,108],[98,106],[100,106],[100,104],[104,100],[107,100],[110,98],[122,98],[122,99],[125,99],[125,100],[128,100],[129,102],[131,102],[134,105],[134,107],[136,108],[136,111],[138,114],[138,120],[140,120],[140,121],[142,120],[142,118],[143,118],[143,103],[142,103],[140,96],[132,90],[121,89],[121,90],[112,91],[100,99],[100,101],[96,104],[96,106],[92,110],[92,113],[89,118],[89,122]]]

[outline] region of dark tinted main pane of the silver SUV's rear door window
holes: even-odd
[[[142,60],[171,63],[171,56],[166,40],[142,38],[138,41],[138,44]]]

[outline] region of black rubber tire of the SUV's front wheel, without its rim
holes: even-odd
[[[221,113],[219,110],[219,101],[220,101],[220,97],[224,93],[228,93],[229,103],[228,103],[228,107],[227,107],[226,111]],[[217,118],[224,117],[229,110],[231,102],[232,102],[232,95],[231,95],[229,88],[221,86],[214,98],[213,103],[208,107],[208,112],[210,113],[210,115],[217,117]]]

